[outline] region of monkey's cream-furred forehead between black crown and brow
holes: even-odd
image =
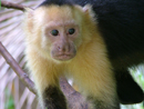
[[[40,7],[34,10],[34,20],[41,23],[47,23],[50,21],[55,22],[68,22],[78,20],[79,10],[74,7],[69,6],[50,6]]]

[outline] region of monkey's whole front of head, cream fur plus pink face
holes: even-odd
[[[78,10],[76,7],[52,6],[33,12],[32,41],[43,57],[59,61],[75,57],[83,40],[80,33],[82,18],[79,17],[82,10]]]

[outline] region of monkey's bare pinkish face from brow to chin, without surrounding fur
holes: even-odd
[[[44,43],[50,43],[50,54],[53,59],[65,61],[75,57],[79,26],[73,21],[50,21],[44,28],[43,37]]]

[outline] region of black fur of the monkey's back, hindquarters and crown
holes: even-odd
[[[144,61],[144,0],[45,0],[41,6],[83,7],[88,3],[92,4],[99,30],[107,47],[120,101],[143,101],[143,90],[131,77],[128,68]]]

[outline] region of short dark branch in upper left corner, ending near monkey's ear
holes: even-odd
[[[12,3],[12,2],[8,2],[8,1],[1,1],[1,7],[6,7],[6,8],[10,8],[10,9],[18,9],[21,11],[24,11],[24,8],[27,8],[25,6],[21,6],[21,4],[17,4],[17,3]]]

